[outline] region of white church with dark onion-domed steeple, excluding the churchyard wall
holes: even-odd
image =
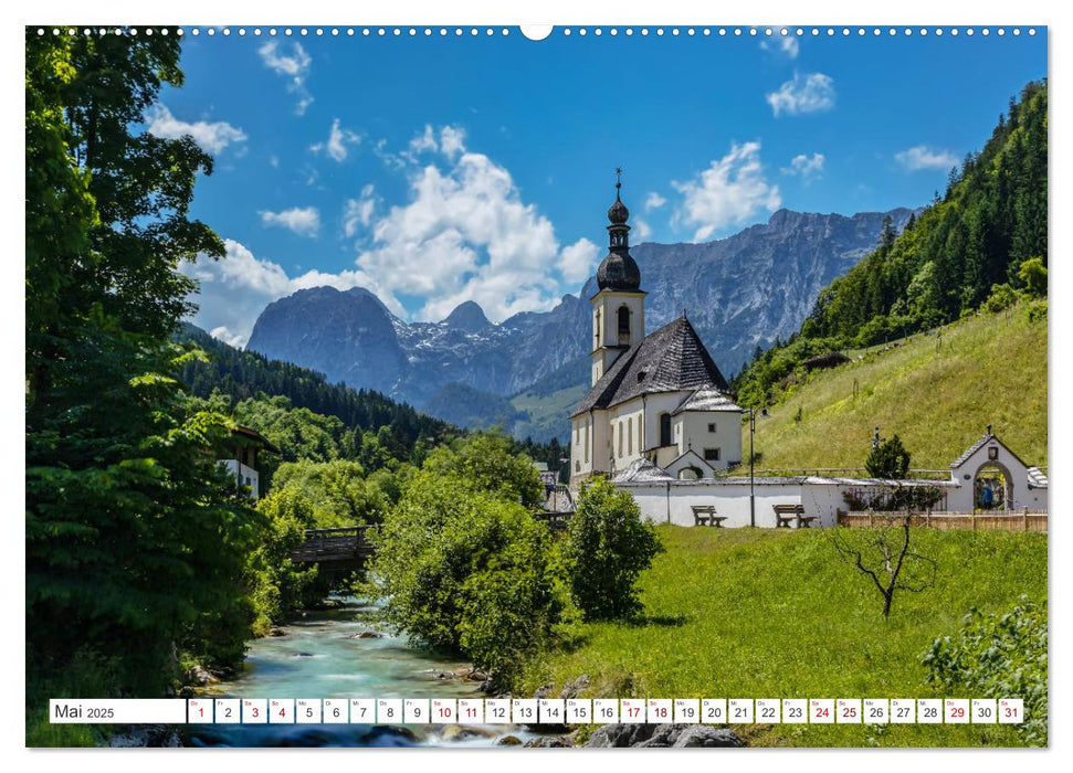
[[[630,256],[630,212],[608,210],[610,252],[592,296],[592,388],[575,409],[570,487],[646,459],[681,479],[709,478],[741,462],[741,414],[727,382],[683,315],[644,335],[641,272]]]

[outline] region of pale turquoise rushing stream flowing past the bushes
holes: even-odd
[[[348,597],[338,608],[307,612],[285,626],[284,636],[251,642],[243,674],[218,685],[211,697],[233,698],[481,698],[475,681],[441,678],[464,671],[469,664],[451,660],[407,645],[362,622],[358,600]],[[490,745],[512,734],[533,737],[517,727],[467,726],[465,732],[442,726],[406,728],[370,724],[213,724],[188,726],[188,745],[275,746],[345,745],[395,746],[467,744]],[[446,740],[464,739],[464,740]]]

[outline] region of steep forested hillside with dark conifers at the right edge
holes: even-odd
[[[1018,294],[1046,294],[1046,81],[1011,98],[991,138],[950,171],[945,195],[819,296],[787,343],[735,379],[746,404],[772,399],[810,358],[927,330]],[[800,374],[800,373],[799,373]]]

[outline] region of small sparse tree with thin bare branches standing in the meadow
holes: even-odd
[[[895,591],[919,593],[935,585],[936,563],[909,550],[912,513],[883,513],[877,518],[881,526],[876,528],[835,527],[829,533],[842,560],[875,584],[883,596],[886,620]]]

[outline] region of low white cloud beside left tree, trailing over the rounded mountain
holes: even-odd
[[[223,244],[224,257],[215,261],[200,255],[194,263],[183,264],[181,271],[197,279],[200,288],[192,298],[200,307],[193,322],[231,346],[245,346],[264,307],[296,290],[322,286],[340,290],[359,286],[377,289],[353,271],[339,274],[311,271],[292,278],[282,266],[254,257],[239,242],[228,239]],[[392,310],[402,313],[398,307]]]

